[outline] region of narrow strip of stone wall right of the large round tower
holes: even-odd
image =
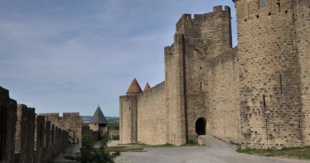
[[[310,1],[295,1],[295,33],[294,42],[298,51],[300,72],[300,92],[302,103],[302,129],[304,145],[310,145]]]

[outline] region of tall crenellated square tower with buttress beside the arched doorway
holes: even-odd
[[[165,47],[167,140],[181,145],[196,139],[195,123],[208,119],[208,60],[232,47],[230,8],[206,14],[183,14],[174,43]],[[179,123],[174,123],[179,122]]]

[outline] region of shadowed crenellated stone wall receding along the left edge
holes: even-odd
[[[0,162],[49,162],[68,145],[68,131],[17,104],[2,87],[0,106]]]

